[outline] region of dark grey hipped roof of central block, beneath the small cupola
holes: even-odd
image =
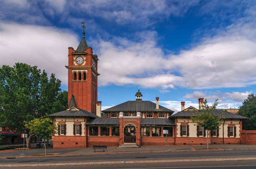
[[[110,107],[108,109],[102,110],[102,112],[136,112],[138,105],[138,112],[174,112],[166,107],[160,106],[156,109],[156,103],[151,101],[127,101],[116,106]]]

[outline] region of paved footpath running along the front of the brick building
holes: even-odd
[[[229,150],[243,150],[243,149],[256,149],[256,145],[242,145],[242,144],[214,144],[209,146],[210,149],[204,151],[218,151],[223,149]],[[93,155],[93,154],[126,154],[126,153],[148,153],[148,152],[175,152],[175,151],[197,151],[207,148],[207,146],[141,146],[140,148],[117,148],[108,147],[103,152],[102,150],[94,150],[92,147],[79,148],[79,149],[52,149],[46,148],[47,154],[54,154],[55,156],[79,156],[79,155]],[[44,148],[41,149],[28,149],[25,150],[25,157],[31,157],[35,154],[44,154]],[[23,150],[8,150],[0,151],[0,158],[6,157],[22,157]]]

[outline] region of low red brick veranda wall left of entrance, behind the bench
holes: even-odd
[[[109,147],[118,147],[119,136],[88,136],[87,147],[92,147],[93,145],[106,145]]]

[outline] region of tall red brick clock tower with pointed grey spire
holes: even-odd
[[[82,26],[84,27],[84,25]],[[97,55],[93,55],[92,47],[88,47],[84,37],[79,43],[77,50],[69,47],[68,69],[68,103],[72,95],[77,108],[96,114],[97,101]]]

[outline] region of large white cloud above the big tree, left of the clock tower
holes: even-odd
[[[68,47],[77,46],[70,31],[35,25],[0,23],[0,66],[16,62],[37,65],[48,75],[55,73],[67,85]]]

